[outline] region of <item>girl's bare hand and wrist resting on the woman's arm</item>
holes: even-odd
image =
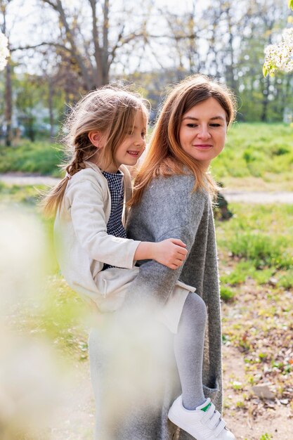
[[[160,242],[141,242],[136,249],[134,259],[153,259],[164,266],[176,269],[182,266],[187,253],[183,241],[178,238],[167,238]]]

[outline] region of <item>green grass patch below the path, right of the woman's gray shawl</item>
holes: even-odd
[[[230,209],[233,218],[216,224],[222,298],[233,299],[247,278],[293,287],[293,206],[232,204]]]

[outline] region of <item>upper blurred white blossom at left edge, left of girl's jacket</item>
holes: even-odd
[[[46,239],[36,216],[0,207],[0,316],[44,291]]]

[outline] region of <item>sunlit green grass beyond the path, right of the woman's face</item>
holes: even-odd
[[[290,182],[293,173],[293,127],[285,124],[235,124],[223,153],[212,162],[216,179],[258,178]]]

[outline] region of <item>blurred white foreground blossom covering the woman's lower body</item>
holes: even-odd
[[[134,407],[156,408],[164,394],[173,345],[167,329],[153,316],[151,304],[150,310],[145,303],[140,310],[127,307],[115,316],[106,316],[105,323],[91,332],[91,362],[103,368],[100,384],[95,384],[93,374],[94,387],[99,388],[103,402],[103,410],[97,411],[102,427],[117,426],[131,418]],[[176,370],[172,373],[176,380]]]

